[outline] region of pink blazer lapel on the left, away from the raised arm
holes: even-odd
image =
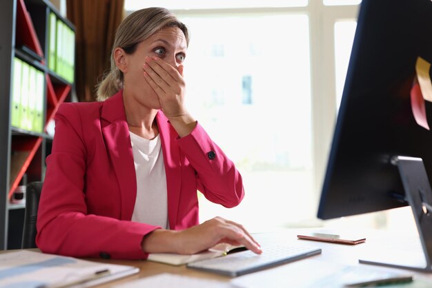
[[[111,165],[117,175],[121,194],[121,220],[132,219],[137,198],[137,178],[133,162],[132,145],[126,114],[123,92],[120,91],[104,102],[101,108],[102,134],[106,143]]]

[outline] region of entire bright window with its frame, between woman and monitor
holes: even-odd
[[[329,6],[125,1],[126,10],[166,7],[188,25],[186,105],[243,176],[239,207],[200,195],[201,220],[223,216],[251,231],[304,220],[320,225],[317,201],[358,9],[358,1],[324,1]]]

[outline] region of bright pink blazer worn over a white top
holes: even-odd
[[[164,154],[170,229],[199,224],[197,189],[234,207],[242,177],[198,124],[188,136],[156,116]],[[37,218],[37,246],[76,257],[144,259],[144,235],[159,228],[130,221],[137,183],[122,91],[104,102],[63,103],[55,116]]]

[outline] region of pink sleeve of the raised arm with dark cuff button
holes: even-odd
[[[177,138],[181,152],[197,172],[197,185],[204,196],[224,207],[235,207],[244,198],[242,176],[233,161],[214,143],[197,123],[194,130]]]

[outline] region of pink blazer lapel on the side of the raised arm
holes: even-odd
[[[179,147],[175,144],[175,138],[178,135],[161,111],[157,112],[156,121],[161,137],[162,152],[164,153],[166,189],[168,190],[168,220],[170,229],[175,229],[181,191],[181,159]]]

